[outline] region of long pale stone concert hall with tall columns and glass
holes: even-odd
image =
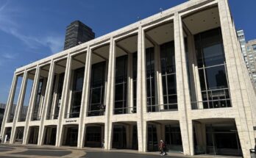
[[[255,101],[227,0],[191,0],[18,68],[1,136],[250,157]]]

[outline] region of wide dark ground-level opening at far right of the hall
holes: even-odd
[[[224,121],[221,121],[224,122]],[[227,121],[226,121],[227,122]],[[235,122],[193,123],[195,154],[242,156]]]

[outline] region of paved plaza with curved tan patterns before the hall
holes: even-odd
[[[102,149],[96,148],[70,148],[70,147],[54,147],[54,146],[21,146],[21,145],[7,145],[7,144],[0,144],[0,157],[1,158],[10,158],[10,157],[83,157],[83,158],[114,158],[114,157],[121,157],[121,158],[154,158],[160,157],[157,152],[154,153],[144,153],[139,154],[137,151],[130,151],[130,150],[111,150],[111,151],[104,151]],[[182,158],[182,154],[168,154],[166,157],[171,158]],[[207,158],[211,156],[200,155],[194,157],[202,157]],[[218,157],[222,158],[222,157]],[[223,157],[224,158],[224,157]],[[236,157],[238,158],[238,157]]]

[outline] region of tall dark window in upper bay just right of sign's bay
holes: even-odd
[[[92,65],[90,77],[90,104],[88,116],[104,115],[104,81],[106,62]]]

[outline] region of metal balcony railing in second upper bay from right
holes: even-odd
[[[170,112],[178,111],[178,104],[156,104],[156,105],[147,105],[147,112]]]

